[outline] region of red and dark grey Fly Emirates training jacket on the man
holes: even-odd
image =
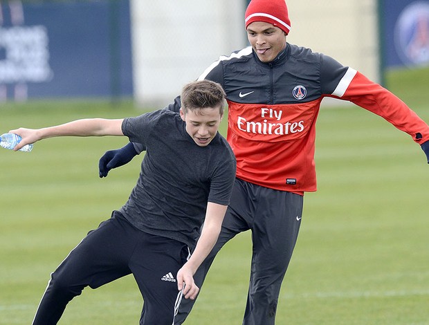
[[[244,48],[221,56],[203,79],[219,82],[226,91],[227,140],[237,158],[237,177],[264,187],[316,191],[316,119],[324,97],[372,111],[419,144],[429,140],[428,124],[398,97],[308,48],[287,44],[270,63]],[[176,99],[172,106],[178,105]]]

